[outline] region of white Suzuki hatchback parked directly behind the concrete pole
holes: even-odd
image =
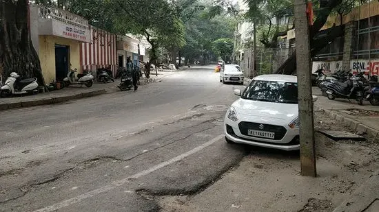
[[[259,75],[230,106],[224,119],[228,143],[299,150],[298,84],[294,75]],[[317,97],[313,96],[313,101]]]

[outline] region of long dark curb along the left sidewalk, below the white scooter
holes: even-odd
[[[61,102],[68,102],[73,99],[81,99],[85,97],[93,97],[95,95],[105,94],[105,89],[97,90],[97,91],[89,91],[74,95],[65,95],[61,97],[48,97],[43,99],[35,99],[30,101],[21,101],[21,102],[12,102],[6,104],[0,104],[0,110],[10,110],[14,108],[27,108],[31,106],[41,106],[46,104],[56,104]]]

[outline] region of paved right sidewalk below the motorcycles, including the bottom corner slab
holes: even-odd
[[[320,89],[313,88],[318,95],[316,110],[323,110],[338,123],[366,134],[373,139],[379,138],[379,107],[364,102],[360,106],[356,101],[347,99],[330,100],[322,96]],[[379,170],[371,174],[351,196],[347,197],[334,212],[379,211]]]

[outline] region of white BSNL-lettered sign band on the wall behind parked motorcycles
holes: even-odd
[[[334,73],[343,69],[342,61],[315,61],[312,62],[312,73],[318,69],[326,73]],[[365,72],[366,75],[379,75],[379,59],[374,60],[351,60],[349,70],[355,74]]]

